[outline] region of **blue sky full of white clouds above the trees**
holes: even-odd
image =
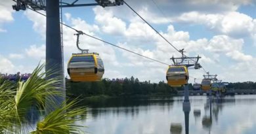
[[[39,61],[45,61],[45,17],[32,10],[16,12],[11,8],[12,1],[0,1],[0,72],[30,73]],[[184,48],[186,55],[202,56],[200,63],[219,79],[256,81],[255,1],[127,0],[127,3],[169,42],[178,49]],[[172,56],[181,56],[126,5],[63,8],[63,18],[64,23],[85,33],[165,63],[171,64]],[[75,31],[67,27],[63,30],[66,64],[78,50]],[[152,82],[165,80],[167,65],[86,36],[81,37],[81,47],[100,54],[105,78],[135,76]],[[190,70],[190,76],[198,78],[197,82],[202,75],[202,70]]]

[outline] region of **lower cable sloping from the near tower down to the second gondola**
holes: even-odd
[[[30,8],[30,7],[28,7],[28,8],[29,8],[30,10],[33,10],[33,9]],[[38,12],[37,10],[33,10],[33,11],[35,11],[35,12],[37,12],[38,14],[41,14],[41,15],[43,15],[43,16],[46,17],[45,14],[43,14],[43,13],[41,13],[41,12]],[[66,27],[69,27],[70,29],[73,29],[73,30],[75,30],[75,31],[78,32],[77,29],[75,29],[74,27],[71,27],[70,25],[67,25],[67,24],[64,24],[64,23],[60,23],[60,24],[65,25]],[[169,64],[167,64],[167,63],[163,63],[163,62],[161,62],[161,61],[158,61],[157,59],[148,58],[147,56],[143,56],[143,55],[141,55],[141,54],[138,54],[138,53],[133,52],[133,51],[131,51],[131,50],[128,50],[128,49],[126,49],[126,48],[122,48],[122,47],[120,47],[120,46],[117,46],[116,44],[112,44],[112,43],[107,42],[107,41],[104,41],[104,40],[102,40],[102,39],[98,39],[97,37],[93,37],[92,35],[88,35],[87,33],[84,33],[83,31],[82,31],[82,33],[83,33],[84,35],[87,35],[88,37],[91,37],[91,38],[96,39],[96,40],[98,40],[98,41],[102,41],[102,42],[104,42],[104,43],[106,43],[106,44],[110,44],[110,45],[112,45],[112,46],[115,46],[115,47],[120,48],[120,49],[122,49],[122,50],[125,50],[125,51],[127,51],[127,52],[131,52],[131,53],[136,54],[136,55],[138,55],[138,56],[141,56],[141,57],[143,57],[143,58],[150,59],[150,60],[152,60],[152,61],[156,61],[156,62],[161,63],[161,64],[164,64],[164,65],[169,65]]]

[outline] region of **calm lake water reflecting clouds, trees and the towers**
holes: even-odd
[[[92,134],[170,134],[174,124],[186,133],[182,101],[183,97],[95,102],[79,124]],[[211,113],[206,96],[192,96],[190,103],[189,133],[256,133],[256,95],[214,99]]]

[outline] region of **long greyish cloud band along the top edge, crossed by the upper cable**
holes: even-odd
[[[186,12],[200,12],[200,14],[223,14],[225,12],[234,12],[242,5],[253,5],[253,0],[196,0],[196,1],[153,1],[141,0],[127,1],[127,3],[135,9],[145,20],[150,23],[163,24],[171,22],[171,18],[181,16]],[[160,9],[158,9],[160,7]],[[115,13],[115,16],[123,20],[135,21],[139,19],[126,5],[116,8],[106,8],[106,10]],[[125,15],[123,15],[125,14]],[[140,20],[141,21],[141,20]]]

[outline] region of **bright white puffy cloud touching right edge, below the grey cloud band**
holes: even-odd
[[[181,16],[172,18],[173,22],[185,24],[203,24],[216,33],[231,37],[248,37],[256,27],[253,18],[240,12],[226,12],[222,14],[202,14],[197,11],[185,12]]]

